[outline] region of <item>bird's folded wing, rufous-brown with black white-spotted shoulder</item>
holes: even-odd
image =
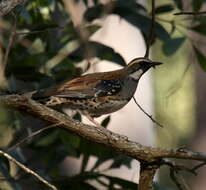
[[[56,87],[40,90],[32,97],[36,99],[50,96],[89,98],[112,95],[120,90],[119,80],[116,79],[120,77],[121,75],[114,77],[113,72],[88,74],[66,81]]]

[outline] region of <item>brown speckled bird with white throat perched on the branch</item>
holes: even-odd
[[[32,99],[48,107],[79,111],[99,126],[94,118],[123,108],[134,96],[141,76],[160,64],[144,57],[135,58],[118,70],[90,73],[38,90]]]

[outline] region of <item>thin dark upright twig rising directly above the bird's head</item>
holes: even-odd
[[[155,27],[155,0],[152,0],[152,19],[151,19],[150,32],[147,40],[146,52],[144,56],[145,58],[149,57],[149,50],[154,36],[154,27]]]

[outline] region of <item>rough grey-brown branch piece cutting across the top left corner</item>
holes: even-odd
[[[0,1],[0,16],[4,16],[11,12],[18,5],[22,5],[26,0],[1,0]]]

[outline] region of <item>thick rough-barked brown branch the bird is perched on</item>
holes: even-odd
[[[105,128],[85,125],[72,120],[69,116],[39,104],[23,95],[0,96],[0,102],[6,106],[35,115],[53,124],[59,124],[75,134],[82,136],[92,142],[105,145],[116,152],[123,153],[139,161],[154,162],[162,158],[180,158],[206,161],[206,154],[192,152],[186,149],[161,149],[143,146],[128,140],[127,137],[113,133]]]

